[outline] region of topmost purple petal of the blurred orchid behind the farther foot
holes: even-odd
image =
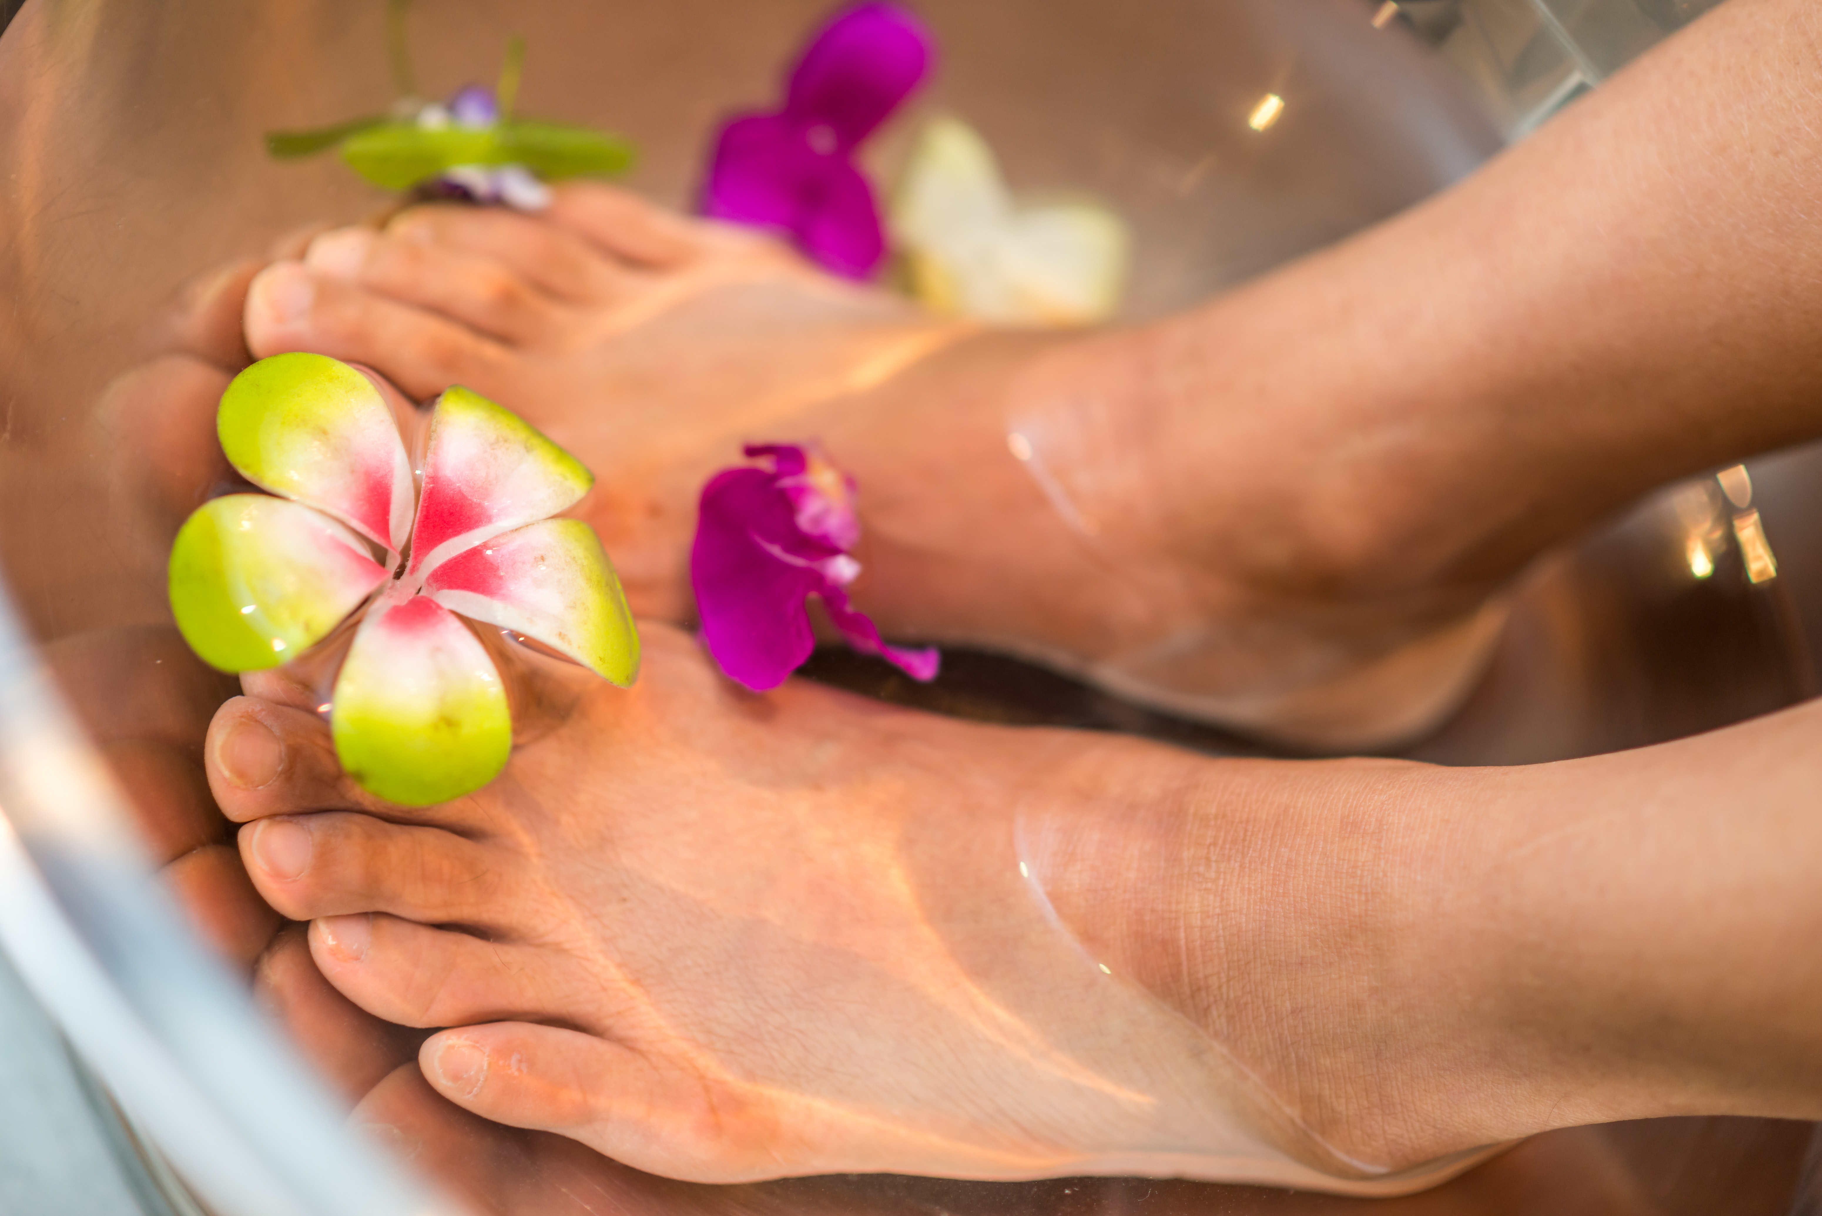
[[[862,4],[824,26],[796,69],[785,108],[825,122],[842,148],[865,139],[929,73],[933,40],[891,4]]]

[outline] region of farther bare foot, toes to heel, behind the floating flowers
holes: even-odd
[[[1257,503],[1310,478],[1257,419],[1204,423],[1263,443],[1274,454],[1252,467],[1283,465],[1286,487],[1255,474],[1193,529],[1166,518],[1148,445],[1122,438],[1152,376],[1122,335],[935,323],[765,237],[605,186],[559,190],[537,219],[432,206],[324,233],[253,281],[246,334],[255,356],[317,350],[412,396],[463,383],[525,414],[596,470],[583,510],[645,616],[692,614],[707,476],[745,441],[818,438],[862,487],[856,603],[895,636],[1346,749],[1421,733],[1498,631],[1476,614],[1490,583],[1390,585],[1381,567],[1356,585],[1356,558],[1301,543],[1295,510],[1261,523]]]

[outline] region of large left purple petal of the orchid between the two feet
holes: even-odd
[[[813,565],[787,562],[756,532],[794,531],[791,501],[773,474],[729,469],[701,492],[691,585],[701,636],[729,678],[756,693],[778,687],[816,649],[805,596],[827,580]]]

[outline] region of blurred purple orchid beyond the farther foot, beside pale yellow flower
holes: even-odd
[[[831,20],[791,69],[783,109],[722,128],[703,211],[782,228],[827,270],[871,275],[885,232],[855,151],[922,84],[933,57],[929,31],[891,4]]]

